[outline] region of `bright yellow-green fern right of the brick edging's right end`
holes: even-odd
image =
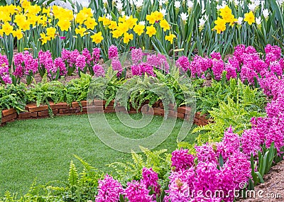
[[[219,103],[219,108],[212,108],[209,111],[213,123],[199,126],[192,130],[192,133],[206,131],[207,133],[200,134],[197,138],[197,144],[202,145],[205,142],[219,142],[222,140],[224,130],[230,125],[234,127],[234,132],[241,135],[244,129],[251,127],[251,118],[264,116],[264,113],[258,111],[249,111],[244,108],[244,103],[235,102],[228,98],[228,103],[222,101]]]

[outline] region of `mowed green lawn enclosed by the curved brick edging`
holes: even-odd
[[[133,129],[121,124],[116,114],[106,114],[116,133],[128,138],[141,138],[154,133],[163,117],[154,116],[146,128]],[[131,115],[133,119],[141,114]],[[155,150],[176,149],[176,138],[183,120],[178,119],[172,133]],[[185,141],[193,142],[196,135],[189,134]],[[77,155],[97,169],[110,172],[107,164],[131,161],[129,153],[111,149],[97,138],[88,116],[62,116],[38,120],[17,120],[0,128],[0,194],[7,190],[26,193],[33,181],[45,184],[52,180],[66,181],[70,160],[78,168]]]

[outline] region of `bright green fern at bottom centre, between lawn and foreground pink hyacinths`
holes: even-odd
[[[165,185],[165,181],[170,173],[170,155],[166,154],[167,150],[150,151],[145,147],[140,147],[145,157],[135,152],[131,153],[133,162],[114,162],[109,164],[116,172],[116,178],[121,184],[126,185],[127,181],[133,179],[139,180],[142,177],[143,167],[152,168],[158,173],[161,185]]]

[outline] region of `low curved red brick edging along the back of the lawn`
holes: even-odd
[[[81,103],[81,106],[80,106]],[[69,106],[67,103],[53,103],[50,102],[50,108],[53,111],[54,116],[67,116],[67,115],[80,115],[89,113],[114,113],[115,111],[125,111],[124,107],[116,106],[114,109],[114,101],[111,101],[107,107],[105,107],[105,101],[94,100],[92,106],[87,106],[87,101],[72,102],[72,105]],[[48,105],[36,106],[35,103],[29,103],[26,106],[26,111],[21,113],[16,113],[16,110],[13,108],[6,109],[2,111],[1,116],[1,125],[5,123],[12,122],[14,120],[26,120],[33,118],[48,118],[50,112],[48,111]],[[139,109],[141,111],[141,109]],[[148,106],[143,108],[144,113],[150,113]],[[162,101],[158,101],[153,104],[154,115],[163,116],[164,108]],[[136,113],[136,109],[131,108],[128,113]],[[178,113],[178,114],[177,114]],[[173,106],[169,108],[168,116],[177,116],[178,118],[187,119],[190,117],[191,108],[187,106],[178,107],[178,111],[173,110]],[[200,112],[195,113],[194,123],[197,125],[207,125],[208,120],[205,116],[201,116]]]

